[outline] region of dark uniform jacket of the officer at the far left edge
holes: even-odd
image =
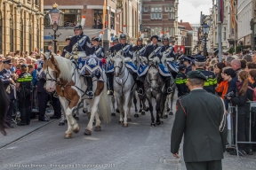
[[[7,87],[11,84],[10,82],[10,78],[12,78],[12,74],[11,74],[11,71],[8,72],[6,71],[5,69],[3,69],[1,72],[0,72],[0,79],[3,81],[3,84],[4,84],[4,89],[6,90]],[[14,91],[14,86],[11,86],[10,87],[10,93],[6,93],[7,96],[9,97],[10,100],[15,100],[15,91]]]

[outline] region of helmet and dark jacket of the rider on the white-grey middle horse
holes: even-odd
[[[126,39],[126,35],[122,34],[120,35],[120,39]],[[132,58],[133,57],[133,52],[132,52],[132,45],[128,43],[118,43],[114,46],[114,51],[116,50],[117,52],[123,52],[124,58]]]

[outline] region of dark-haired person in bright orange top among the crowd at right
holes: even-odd
[[[216,92],[222,99],[224,99],[224,95],[228,91],[228,81],[223,81],[223,78],[221,76],[222,69],[225,67],[224,63],[217,63],[214,65],[214,73],[216,74],[216,79],[217,79],[217,87],[216,87]],[[223,94],[223,95],[222,95]]]

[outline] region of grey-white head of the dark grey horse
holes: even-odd
[[[148,82],[152,89],[157,88],[157,81],[160,80],[158,68],[155,63],[152,63],[148,68]]]

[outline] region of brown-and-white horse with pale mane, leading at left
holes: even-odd
[[[84,83],[84,77],[80,76],[76,65],[67,58],[59,56],[44,56],[44,73],[46,74],[46,90],[57,91],[60,98],[60,104],[63,107],[68,120],[68,130],[64,138],[72,138],[73,132],[78,133],[80,128],[76,123],[72,112],[76,106],[84,99],[84,90],[87,88]],[[105,74],[104,74],[105,76]],[[105,77],[106,80],[106,77]],[[91,105],[91,119],[85,129],[84,135],[92,135],[92,122],[96,119],[94,131],[100,131],[100,115],[105,122],[110,120],[110,107],[107,98],[106,84],[102,81],[93,82],[93,99],[86,99]]]

